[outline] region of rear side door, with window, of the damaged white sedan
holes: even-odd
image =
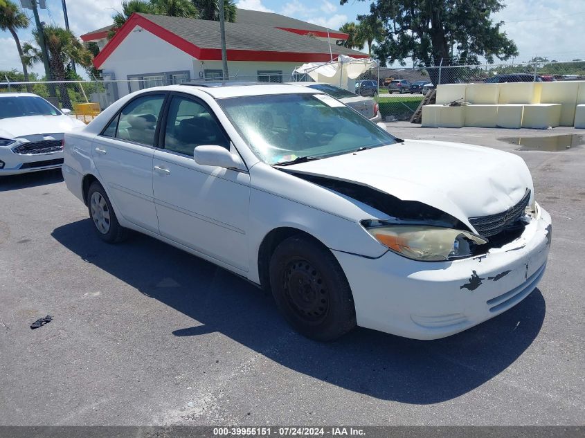
[[[159,232],[152,193],[152,159],[167,93],[146,93],[126,104],[96,137],[93,163],[128,221]]]

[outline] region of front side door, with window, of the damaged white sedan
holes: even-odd
[[[153,161],[161,235],[247,271],[250,176],[195,163],[198,145],[233,147],[204,102],[176,94],[167,107]]]

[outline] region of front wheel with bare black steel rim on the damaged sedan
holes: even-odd
[[[312,239],[293,236],[278,245],[270,260],[270,284],[282,316],[307,338],[335,340],[356,326],[352,291],[341,266]]]

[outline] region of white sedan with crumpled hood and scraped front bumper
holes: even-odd
[[[66,134],[97,234],[177,246],[270,290],[301,334],[442,338],[543,276],[550,216],[519,156],[401,140],[285,84],[138,91]]]

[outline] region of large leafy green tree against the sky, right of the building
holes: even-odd
[[[490,18],[504,7],[501,0],[375,0],[370,14],[358,18],[381,20],[385,35],[372,51],[383,64],[404,65],[407,57],[427,66],[476,62],[478,56],[493,62],[518,55],[503,21]]]

